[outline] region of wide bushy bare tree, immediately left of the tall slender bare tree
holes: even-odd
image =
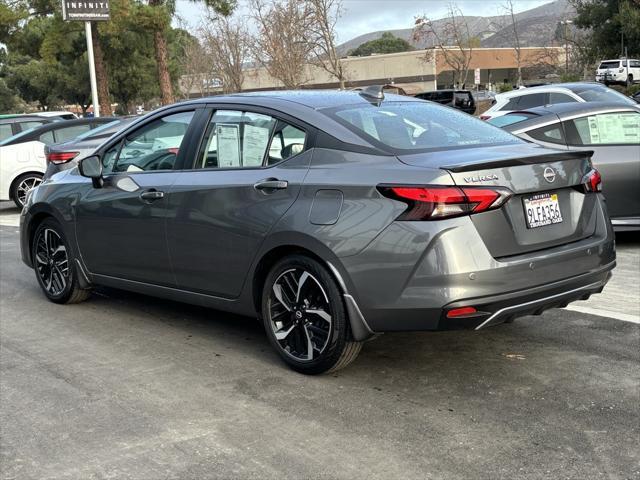
[[[311,24],[313,9],[307,1],[252,0],[253,19],[258,26],[256,61],[285,88],[302,85],[305,66],[316,47]]]

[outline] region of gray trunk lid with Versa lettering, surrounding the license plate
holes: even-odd
[[[592,153],[519,144],[399,158],[409,165],[445,170],[459,186],[511,190],[513,197],[501,208],[470,217],[493,257],[501,258],[574,242],[595,233],[597,195],[581,189],[583,178],[592,168]],[[526,209],[535,210],[536,205],[542,205],[543,210],[545,205],[557,206],[562,221],[529,226],[527,218],[531,217]],[[536,219],[546,221],[540,211]]]

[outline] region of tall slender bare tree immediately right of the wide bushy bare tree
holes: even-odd
[[[336,51],[335,28],[342,12],[342,0],[308,0],[312,8],[310,33],[315,48],[313,63],[338,79],[345,88],[346,74]]]

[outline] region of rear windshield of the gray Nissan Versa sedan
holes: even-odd
[[[471,115],[433,103],[358,104],[323,112],[371,144],[397,153],[522,143]]]

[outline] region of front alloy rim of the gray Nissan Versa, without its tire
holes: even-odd
[[[52,296],[62,294],[69,282],[69,257],[60,235],[45,228],[36,240],[35,263],[44,289]]]

